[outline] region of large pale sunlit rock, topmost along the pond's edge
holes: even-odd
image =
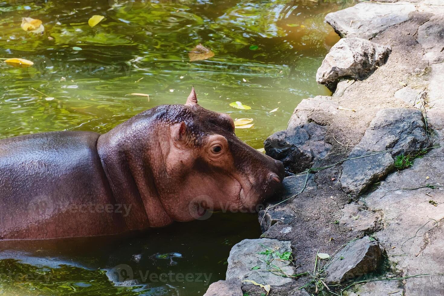
[[[337,12],[330,12],[325,20],[342,38],[359,37],[371,39],[390,26],[409,19],[416,10],[414,4],[358,3]]]

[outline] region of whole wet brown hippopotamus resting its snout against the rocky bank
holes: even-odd
[[[105,134],[0,140],[0,239],[114,235],[254,211],[281,185],[280,161],[243,143],[228,114],[161,105]]]

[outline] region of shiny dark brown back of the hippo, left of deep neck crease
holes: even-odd
[[[121,215],[105,209],[115,202],[97,153],[99,136],[62,131],[0,140],[0,238],[124,230]]]

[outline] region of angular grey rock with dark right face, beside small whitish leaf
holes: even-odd
[[[352,241],[337,253],[325,268],[325,282],[339,284],[376,272],[383,262],[379,243],[370,237]]]

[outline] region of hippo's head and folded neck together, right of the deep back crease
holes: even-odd
[[[152,108],[103,134],[98,150],[117,201],[140,198],[131,214],[146,214],[149,226],[202,209],[254,211],[284,178],[282,163],[239,140],[228,114],[200,107],[194,88],[185,105]]]

